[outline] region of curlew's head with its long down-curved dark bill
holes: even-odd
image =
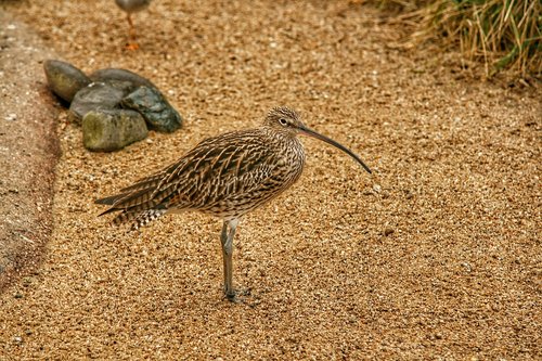
[[[307,136],[311,138],[319,139],[321,141],[331,144],[352,158],[354,158],[367,172],[371,173],[371,169],[358,157],[352,151],[347,149],[346,146],[337,143],[333,139],[330,139],[319,132],[308,128],[300,119],[299,115],[296,111],[291,109],[289,107],[280,106],[272,108],[263,121],[264,126],[270,127],[276,133],[284,134],[286,137],[296,137],[296,136]]]

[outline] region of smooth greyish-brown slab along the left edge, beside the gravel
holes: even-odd
[[[42,61],[56,56],[0,11],[0,291],[39,267],[52,232],[56,106]]]

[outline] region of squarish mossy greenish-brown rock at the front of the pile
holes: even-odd
[[[117,151],[147,133],[145,120],[134,111],[95,109],[82,118],[82,141],[90,151]]]

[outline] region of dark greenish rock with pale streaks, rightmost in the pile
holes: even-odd
[[[156,88],[139,87],[122,99],[121,105],[141,113],[149,127],[157,131],[172,132],[182,125],[180,114]]]

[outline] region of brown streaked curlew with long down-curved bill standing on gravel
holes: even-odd
[[[285,106],[272,108],[251,129],[207,138],[173,164],[142,178],[118,194],[96,199],[117,212],[112,223],[130,223],[131,230],[167,214],[196,210],[222,220],[220,243],[223,292],[237,300],[233,288],[233,238],[240,219],[275,198],[301,176],[305,151],[298,136],[324,141],[350,155],[369,173],[358,155],[336,141],[308,128],[299,114]]]

